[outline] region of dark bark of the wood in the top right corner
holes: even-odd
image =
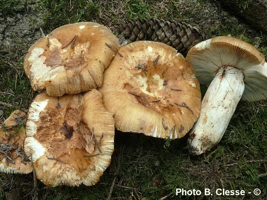
[[[246,23],[252,25],[258,31],[267,34],[267,0],[251,0],[244,9],[243,5],[248,0],[221,0],[226,8],[231,9],[243,18]]]

